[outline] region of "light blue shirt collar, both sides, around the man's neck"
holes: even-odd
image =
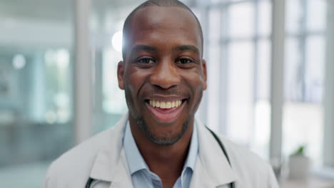
[[[143,156],[141,156],[141,153],[139,152],[138,147],[136,145],[136,141],[133,138],[129,122],[126,123],[123,148],[126,154],[126,160],[128,162],[128,167],[131,174],[142,169],[147,169],[149,171],[148,165],[146,164],[145,160],[143,160]],[[195,167],[197,155],[198,155],[198,133],[197,133],[196,123],[194,123],[193,135],[191,136],[189,152],[183,169],[190,168],[193,170]]]

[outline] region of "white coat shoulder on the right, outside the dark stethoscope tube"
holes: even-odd
[[[231,142],[226,137],[219,135],[219,138],[226,147],[233,171],[238,174],[242,184],[245,182],[248,184],[248,186],[244,184],[241,187],[249,187],[250,184],[253,184],[252,187],[278,187],[273,169],[267,161],[261,159],[248,148]]]

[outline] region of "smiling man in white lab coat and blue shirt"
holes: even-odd
[[[270,165],[195,120],[206,90],[202,56],[201,25],[187,6],[138,6],[118,63],[128,115],[51,164],[44,186],[278,187]]]

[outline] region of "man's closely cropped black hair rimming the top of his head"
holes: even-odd
[[[127,48],[126,35],[127,35],[128,28],[130,26],[131,20],[133,19],[134,14],[136,14],[138,10],[143,9],[148,6],[176,6],[182,9],[186,9],[190,11],[191,14],[193,14],[193,11],[191,11],[191,9],[188,6],[186,6],[181,1],[178,1],[178,0],[148,0],[148,1],[143,2],[143,4],[137,6],[136,9],[133,9],[133,11],[131,11],[128,17],[126,17],[126,21],[124,22],[124,25],[123,25],[123,48],[122,48],[123,61],[125,61],[125,57],[126,57],[126,48]],[[201,23],[198,21],[197,16],[195,14],[193,14],[193,16],[195,17],[198,23],[198,29],[201,35],[202,56],[203,56],[204,40],[203,40],[203,31],[202,31]]]

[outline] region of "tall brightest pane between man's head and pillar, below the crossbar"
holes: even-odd
[[[228,136],[250,145],[253,136],[253,44],[248,41],[231,43],[228,49]]]

